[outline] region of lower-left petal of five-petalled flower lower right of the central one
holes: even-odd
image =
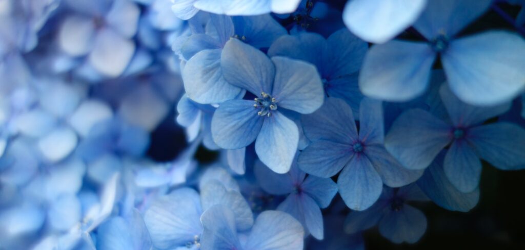
[[[327,140],[313,141],[297,158],[302,171],[323,178],[339,173],[353,155],[352,146]]]

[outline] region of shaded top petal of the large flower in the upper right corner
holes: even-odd
[[[481,16],[491,0],[429,0],[414,27],[428,40],[445,34],[454,37],[470,22]]]

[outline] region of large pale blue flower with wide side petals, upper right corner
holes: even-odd
[[[393,40],[366,55],[359,84],[364,95],[406,101],[428,86],[430,69],[440,56],[448,84],[465,103],[496,105],[525,87],[525,40],[507,31],[456,38],[483,14],[490,0],[430,0],[414,24],[426,42]]]

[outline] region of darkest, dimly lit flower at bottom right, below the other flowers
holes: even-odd
[[[346,233],[357,233],[379,224],[379,233],[394,243],[416,243],[427,228],[425,214],[409,201],[427,201],[416,184],[401,188],[385,187],[375,204],[364,211],[353,211],[346,217]]]

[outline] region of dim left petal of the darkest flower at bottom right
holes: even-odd
[[[363,211],[351,211],[344,220],[344,232],[359,233],[375,226],[383,217],[386,203],[378,201],[372,207]]]

